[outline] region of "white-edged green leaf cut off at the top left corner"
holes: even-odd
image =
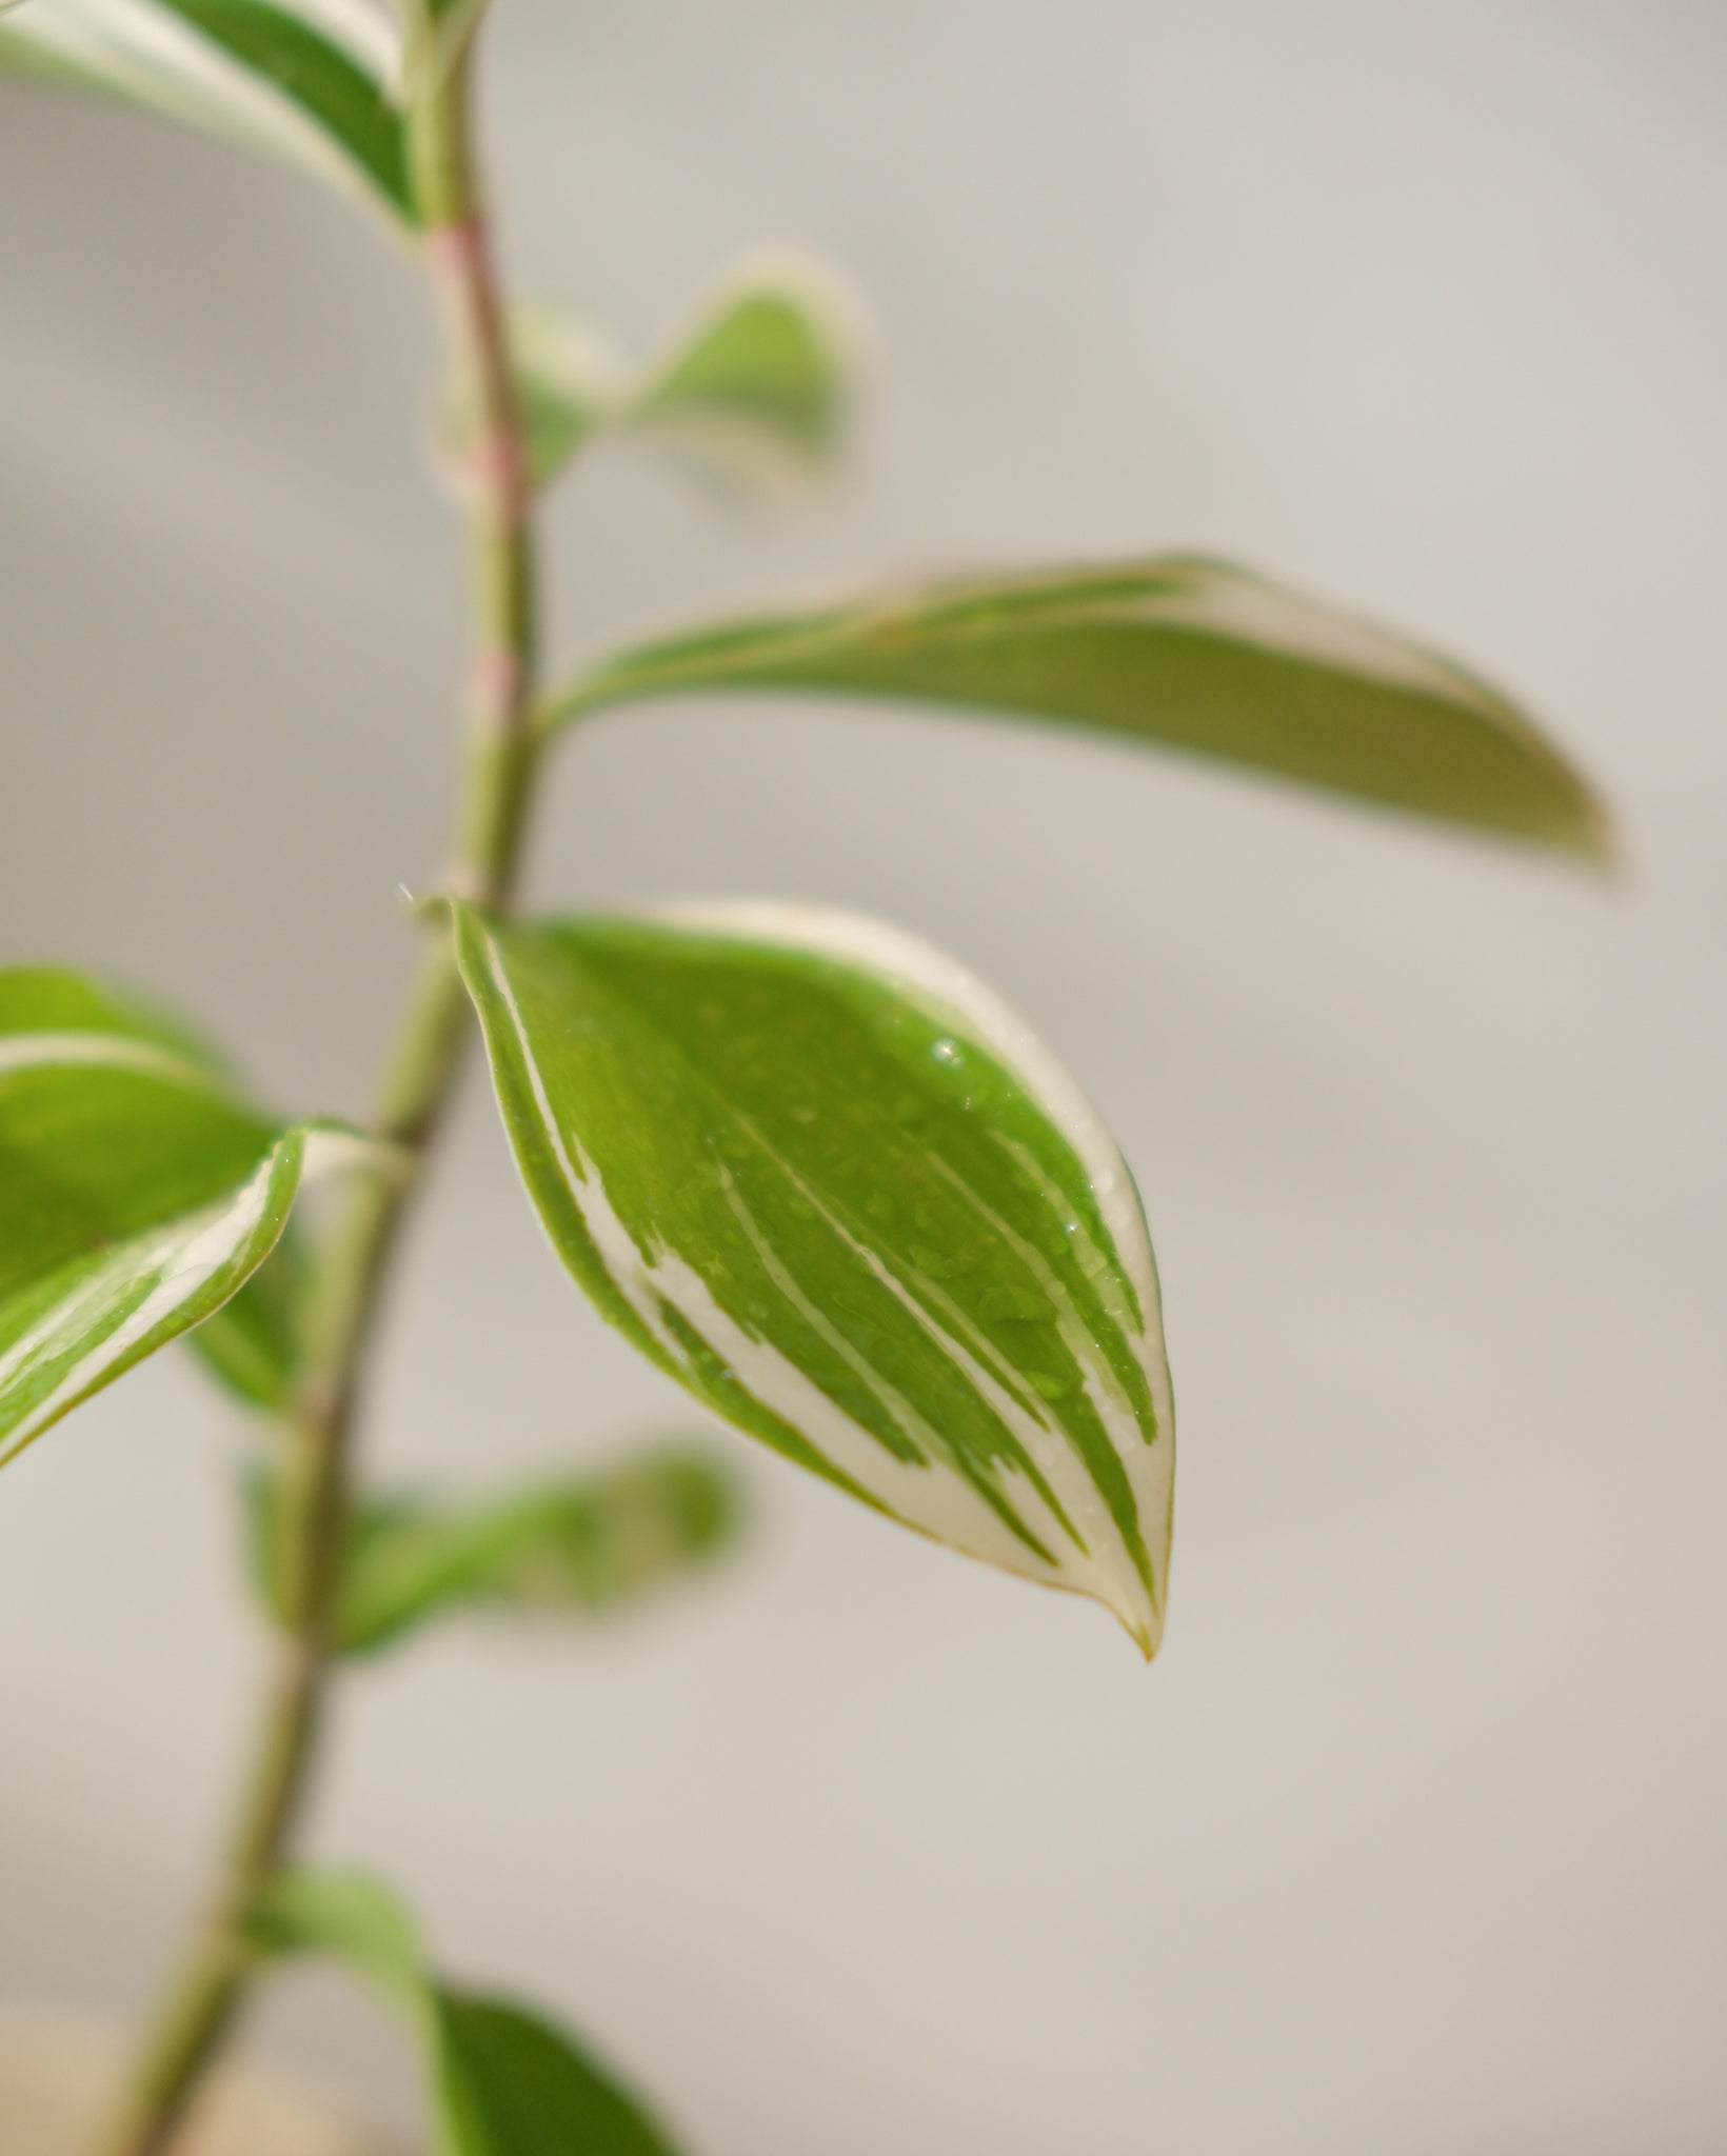
[[[371,0],[24,0],[0,75],[144,106],[414,222],[395,37]]]

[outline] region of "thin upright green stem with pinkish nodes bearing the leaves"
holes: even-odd
[[[535,558],[522,427],[476,185],[470,75],[470,52],[461,52],[418,97],[410,138],[425,263],[464,403],[466,444],[470,733],[448,888],[502,908],[515,884],[535,776]],[[416,1162],[431,1156],[468,1037],[468,1000],[448,938],[440,936],[410,992],[375,1106],[377,1130]],[[285,1626],[252,1764],[205,1921],[147,2027],[93,2156],[164,2156],[250,1990],[246,1915],[293,1843],[326,1718],[360,1386],[416,1184],[412,1175],[356,1179],[319,1250],[302,1378],[287,1416]]]

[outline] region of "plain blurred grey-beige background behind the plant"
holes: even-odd
[[[1095,1608],[714,1432],[755,1531],[621,1628],[358,1675],[319,1850],[705,2156],[1703,2156],[1727,2134],[1727,13],[500,0],[526,289],[636,345],[832,254],[854,485],[604,455],[561,651],[878,563],[1201,545],[1475,660],[1621,808],[1606,888],[1175,759],[865,709],[599,722],[535,890],[953,946],[1145,1188],[1182,1401],[1147,1671]],[[423,298],[298,177],[0,101],[0,923],[364,1097],[459,651]],[[690,1427],[470,1087],[377,1453]],[[252,1641],[183,1356],[0,1492],[0,1992],[129,2009]],[[259,2042],[412,2117],[295,1979]]]

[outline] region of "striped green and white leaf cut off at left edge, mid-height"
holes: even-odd
[[[220,1311],[354,1143],[78,975],[0,972],[0,1462]]]

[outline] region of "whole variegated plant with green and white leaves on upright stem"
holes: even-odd
[[[720,1548],[688,1449],[483,1505],[362,1488],[354,1401],[457,1063],[483,1039],[576,1285],[722,1421],[888,1520],[1110,1608],[1169,1602],[1175,1414],[1132,1173],[1082,1089],[964,964],[815,903],[526,921],[539,776],[595,711],[793,690],[1220,757],[1600,862],[1606,817],[1505,696],[1218,561],[923,582],[675,630],[543,675],[535,505],[610,440],[731,496],[845,448],[852,308],[761,257],[643,364],[500,291],[470,132],[485,0],[11,0],[0,73],[270,151],[367,205],[438,298],[438,461],[474,561],[446,890],[371,1112],[280,1117],[185,1026],[71,972],[0,975],[0,1460],[185,1337],[257,1414],[248,1531],[278,1634],[211,1910],[101,2156],[168,2150],[259,1973],[351,1966],[416,2035],[446,2156],[664,2152],[569,2040],[429,1975],[375,1882],[291,1867],[347,1656],[459,1608],[595,1611]],[[1147,783],[1149,776],[1147,776]],[[476,1020],[476,1022],[474,1022]],[[317,1171],[339,1192],[293,1220]]]

